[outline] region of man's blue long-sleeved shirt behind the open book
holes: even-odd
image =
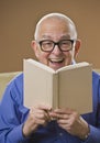
[[[0,143],[100,143],[100,76],[92,73],[93,111],[82,114],[89,123],[90,134],[86,141],[70,135],[56,121],[40,127],[29,139],[22,134],[22,125],[29,114],[23,106],[23,74],[7,87],[0,103]]]

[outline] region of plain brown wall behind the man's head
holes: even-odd
[[[100,68],[100,0],[0,0],[0,73],[22,70],[23,58],[35,58],[35,24],[49,12],[75,21],[81,40],[77,62]]]

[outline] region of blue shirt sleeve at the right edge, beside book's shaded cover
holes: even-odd
[[[81,143],[100,143],[100,75],[93,73],[92,78],[93,88],[93,113],[96,112],[96,118],[93,119],[96,125],[90,127],[90,134],[85,142]]]

